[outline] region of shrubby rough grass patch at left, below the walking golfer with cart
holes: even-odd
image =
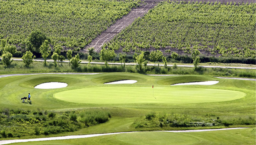
[[[47,110],[31,112],[23,109],[3,109],[0,110],[0,138],[77,131],[107,122],[110,118],[110,113],[102,110],[58,113]]]

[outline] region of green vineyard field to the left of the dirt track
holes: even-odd
[[[83,48],[138,3],[139,0],[1,0],[0,39],[7,39],[9,44],[26,44],[28,35],[40,30],[52,45]]]

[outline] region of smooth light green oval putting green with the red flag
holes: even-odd
[[[233,90],[196,87],[90,87],[67,90],[53,96],[67,102],[88,104],[188,104],[230,101],[246,94]]]

